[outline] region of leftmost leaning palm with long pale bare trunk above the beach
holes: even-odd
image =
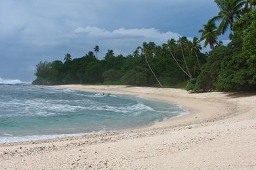
[[[152,50],[153,50],[152,48],[155,46],[153,43],[143,42],[142,47],[139,46],[137,48],[137,50],[140,49],[142,51],[142,53],[144,53],[146,64],[148,65],[148,68],[150,69],[152,75],[154,75],[154,77],[158,81],[158,84],[160,84],[160,86],[162,87],[160,80],[158,80],[158,77],[156,76],[156,74],[154,73],[153,69],[150,67],[150,64],[148,63],[148,57],[152,56]]]

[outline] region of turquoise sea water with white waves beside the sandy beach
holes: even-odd
[[[178,105],[139,97],[0,84],[0,143],[130,129],[179,114]]]

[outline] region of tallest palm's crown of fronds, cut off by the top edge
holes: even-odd
[[[232,24],[235,20],[240,17],[242,7],[245,5],[244,0],[215,0],[218,5],[220,12],[217,16],[213,17],[211,20],[213,22],[221,22],[218,31],[225,33],[228,27],[232,31]]]

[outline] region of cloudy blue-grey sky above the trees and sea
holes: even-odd
[[[79,58],[95,44],[102,59],[108,49],[200,37],[217,13],[213,0],[0,0],[0,78],[32,82],[39,61]]]

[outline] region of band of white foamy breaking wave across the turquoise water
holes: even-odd
[[[33,99],[33,100],[18,100],[13,99],[11,101],[1,101],[0,105],[2,109],[9,109],[12,114],[3,114],[1,117],[12,116],[53,116],[53,115],[66,115],[75,112],[83,114],[89,112],[89,110],[109,111],[121,114],[128,114],[129,116],[138,116],[143,112],[156,110],[144,105],[143,103],[135,103],[132,105],[112,106],[102,105],[95,103],[90,99],[74,100],[73,105],[70,105],[68,100],[45,100],[45,99]],[[10,108],[10,106],[12,106]]]

